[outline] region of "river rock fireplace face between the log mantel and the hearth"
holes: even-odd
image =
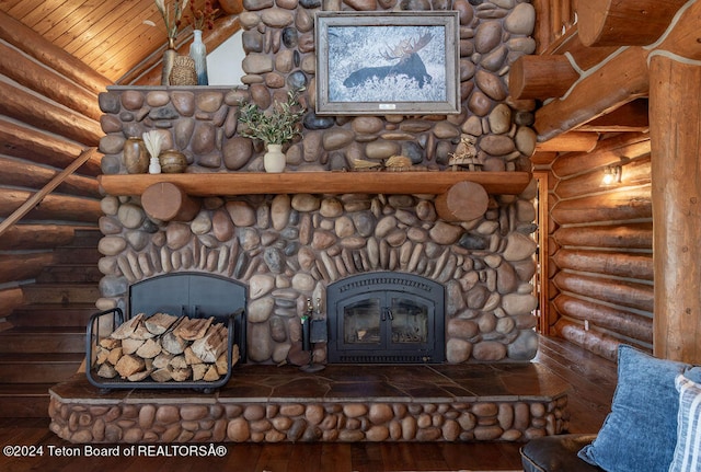
[[[426,195],[210,198],[189,222],[152,221],[137,198],[117,199],[101,221],[99,308],[124,307],[130,284],[163,274],[232,278],[249,287],[249,360],[303,365],[299,318],[308,299],[319,300],[323,316],[329,284],[400,272],[446,287],[449,362],[528,360],[537,349],[528,192],[492,197],[481,218],[466,222],[440,220]],[[324,343],[313,356],[325,361]]]

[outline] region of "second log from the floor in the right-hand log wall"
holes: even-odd
[[[568,295],[560,295],[553,300],[558,313],[589,322],[589,327],[601,326],[610,332],[637,339],[653,342],[653,320],[630,311],[618,310],[590,300],[581,300]]]

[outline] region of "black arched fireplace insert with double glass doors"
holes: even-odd
[[[329,361],[445,360],[445,289],[412,274],[369,273],[326,291]]]

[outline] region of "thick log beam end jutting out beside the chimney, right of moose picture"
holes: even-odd
[[[516,100],[562,96],[579,79],[565,56],[521,56],[512,65],[508,90]]]

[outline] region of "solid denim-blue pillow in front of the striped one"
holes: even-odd
[[[608,472],[666,472],[677,444],[675,379],[691,368],[621,345],[611,412],[579,458]]]

